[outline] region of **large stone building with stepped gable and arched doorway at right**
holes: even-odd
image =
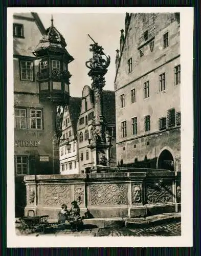
[[[126,13],[116,69],[117,164],[180,171],[180,14]]]

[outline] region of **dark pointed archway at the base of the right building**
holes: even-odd
[[[174,158],[171,152],[167,149],[164,149],[158,157],[157,161],[158,169],[167,169],[174,172]]]

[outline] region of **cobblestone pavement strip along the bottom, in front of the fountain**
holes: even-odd
[[[16,228],[16,233],[19,233]],[[25,234],[23,234],[25,235]],[[135,236],[135,237],[155,237],[155,236],[181,236],[181,222],[173,221],[171,223],[150,226],[150,227],[141,227],[141,228],[84,228],[82,231],[72,232],[69,229],[65,230],[55,230],[55,232],[37,234],[32,233],[28,236],[75,236],[75,237],[119,237],[119,236]]]

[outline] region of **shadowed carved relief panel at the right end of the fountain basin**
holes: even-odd
[[[172,185],[155,185],[154,183],[146,184],[146,203],[168,203],[172,202]]]

